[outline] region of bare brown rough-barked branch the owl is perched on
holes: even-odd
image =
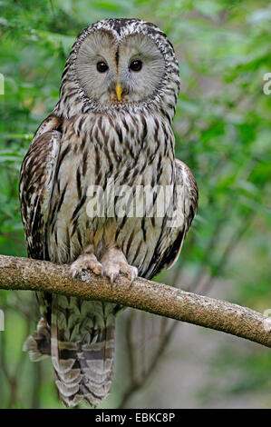
[[[106,277],[83,273],[73,279],[68,265],[0,255],[0,289],[62,293],[119,303],[271,347],[270,318],[263,314],[142,278],[130,283],[121,275],[111,284]]]

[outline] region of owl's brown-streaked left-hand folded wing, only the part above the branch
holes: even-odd
[[[20,173],[20,202],[28,256],[49,261],[46,222],[62,133],[59,119],[49,116],[38,128]]]

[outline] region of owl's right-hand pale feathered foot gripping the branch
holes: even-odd
[[[102,255],[103,273],[113,283],[120,273],[126,274],[132,282],[138,275],[138,269],[129,263],[120,249],[110,248]]]

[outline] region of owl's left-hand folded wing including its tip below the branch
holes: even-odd
[[[57,124],[57,118],[49,116],[40,125],[24,157],[20,173],[19,194],[27,253],[30,258],[37,260],[49,261],[46,223],[62,138],[62,133],[56,130]],[[24,343],[24,351],[30,351],[30,357],[34,361],[51,353],[47,321],[50,323],[52,305],[50,294],[38,292],[35,295],[43,317],[38,323],[37,331]]]

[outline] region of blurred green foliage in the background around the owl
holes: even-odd
[[[214,279],[227,279],[235,283],[227,291],[230,301],[262,312],[271,308],[271,94],[263,92],[264,74],[271,72],[270,4],[6,0],[0,5],[0,73],[5,76],[5,95],[0,95],[0,253],[25,255],[20,165],[34,131],[57,102],[74,37],[96,20],[136,16],[159,25],[179,57],[176,153],[189,164],[199,187],[198,216],[174,271],[185,282],[189,278],[192,288],[200,281],[206,292]],[[24,336],[36,319],[32,296],[2,292],[0,307],[6,307],[8,325],[6,333],[0,332],[0,354],[19,391],[13,396],[8,375],[0,371],[0,404],[61,407],[49,364],[36,367],[21,355]],[[243,379],[230,393],[260,387],[270,370],[265,353],[239,360]],[[220,362],[218,358],[218,368]],[[222,364],[224,369],[226,359]],[[39,398],[31,392],[35,384]]]

